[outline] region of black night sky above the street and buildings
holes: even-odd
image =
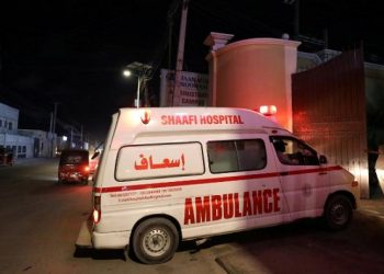
[[[124,79],[124,66],[155,66],[150,92],[159,90],[159,69],[168,67],[167,13],[173,14],[171,68],[174,68],[180,1],[7,1],[0,4],[0,102],[20,109],[20,127],[49,129],[58,104],[59,134],[82,126],[89,138],[103,138],[111,115],[132,106],[137,80]],[[369,0],[302,0],[300,34],[345,50],[364,43],[366,60],[383,64],[383,8]],[[173,12],[172,12],[173,11]],[[294,4],[284,0],[191,0],[184,70],[206,72],[203,45],[210,32],[233,41],[293,36]],[[300,50],[317,52],[305,44]]]

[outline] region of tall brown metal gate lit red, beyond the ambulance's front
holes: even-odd
[[[293,132],[353,173],[369,198],[362,48],[292,76]]]

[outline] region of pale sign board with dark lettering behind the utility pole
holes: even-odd
[[[208,76],[189,71],[179,72],[178,106],[208,105]],[[173,105],[174,71],[161,69],[160,106]]]

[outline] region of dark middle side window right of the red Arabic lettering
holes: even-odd
[[[260,170],[267,164],[261,139],[210,141],[207,152],[212,173]]]

